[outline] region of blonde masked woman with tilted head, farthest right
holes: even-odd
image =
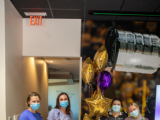
[[[149,120],[139,112],[139,107],[136,103],[129,104],[128,112],[130,113],[131,117],[127,117],[125,120]]]

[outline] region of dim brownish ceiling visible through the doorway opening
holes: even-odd
[[[74,80],[79,80],[79,58],[44,58],[48,68],[52,68],[50,74],[67,74],[71,73]],[[53,62],[51,62],[53,61]]]

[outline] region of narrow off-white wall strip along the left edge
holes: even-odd
[[[5,5],[4,0],[0,0],[0,120],[6,118],[5,101]]]

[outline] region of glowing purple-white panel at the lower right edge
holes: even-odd
[[[157,85],[156,89],[156,108],[155,108],[155,120],[160,120],[160,85]]]

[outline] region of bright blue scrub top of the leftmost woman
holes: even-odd
[[[43,117],[40,113],[32,113],[28,109],[23,111],[20,115],[19,120],[43,120]]]

